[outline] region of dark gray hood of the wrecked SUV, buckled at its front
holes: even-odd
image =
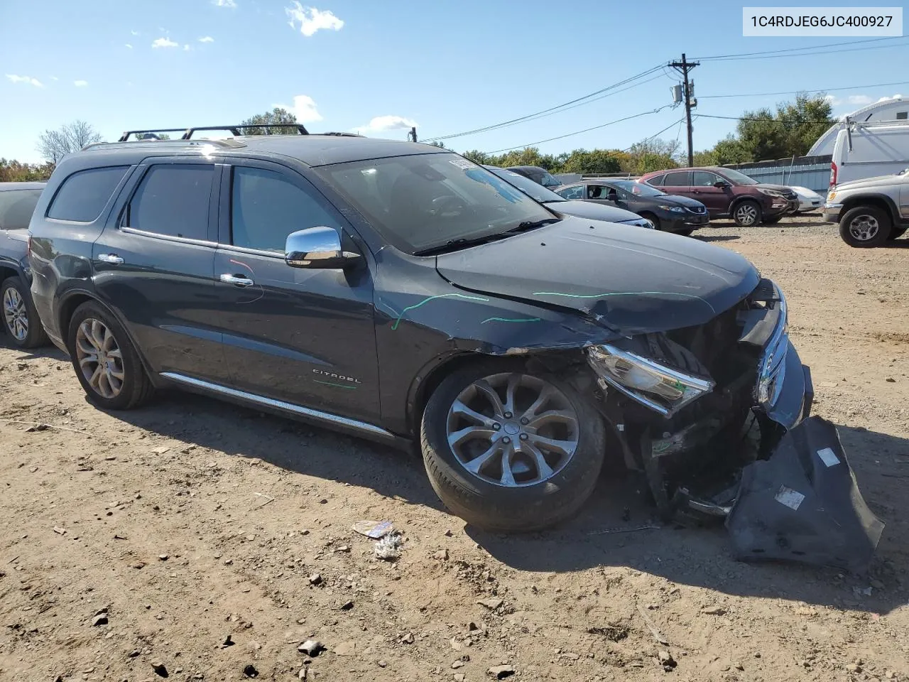
[[[454,286],[572,308],[625,335],[702,325],[760,279],[727,249],[575,217],[437,256],[436,269]]]

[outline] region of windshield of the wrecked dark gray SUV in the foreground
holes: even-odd
[[[385,241],[408,254],[556,220],[502,178],[454,154],[392,156],[313,170]]]

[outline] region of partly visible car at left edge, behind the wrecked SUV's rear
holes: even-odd
[[[20,348],[47,343],[32,303],[28,267],[28,222],[45,183],[0,183],[0,315],[10,340]]]

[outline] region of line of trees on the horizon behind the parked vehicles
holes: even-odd
[[[250,116],[243,125],[245,135],[280,135],[294,124],[296,116],[281,107]],[[830,102],[820,95],[797,95],[794,101],[782,102],[774,110],[761,108],[738,116],[735,133],[727,135],[710,149],[694,153],[694,165],[744,164],[749,161],[804,155],[814,141],[834,124]],[[157,135],[165,139],[166,135]],[[38,152],[44,164],[25,164],[0,159],[0,182],[46,180],[55,164],[83,146],[102,142],[104,138],[85,121],[74,121],[56,130],[45,130],[38,137]],[[437,146],[445,146],[436,143]],[[562,154],[542,154],[538,147],[514,149],[504,154],[488,154],[480,149],[464,152],[477,164],[538,165],[551,173],[643,175],[664,168],[684,165],[682,145],[674,140],[647,139],[627,149],[574,149]]]

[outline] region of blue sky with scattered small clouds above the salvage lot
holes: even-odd
[[[851,40],[745,38],[742,5],[728,0],[308,3],[2,0],[0,156],[39,161],[38,135],[75,119],[113,140],[127,128],[237,123],[274,105],[294,110],[314,132],[361,128],[405,139],[413,123],[425,139],[559,105],[682,52],[691,58]],[[693,72],[695,111],[741,115],[793,96],[710,95],[841,87],[830,93],[841,115],[909,95],[909,75],[897,68],[909,63],[909,40],[872,45],[881,47],[704,61]],[[565,135],[666,105],[675,82],[670,70],[658,69],[624,92],[445,145],[495,151]],[[684,141],[684,130],[672,125],[683,114],[667,108],[539,146],[554,153],[624,148],[666,126],[664,138]],[[713,145],[734,125],[695,121],[695,148]]]

